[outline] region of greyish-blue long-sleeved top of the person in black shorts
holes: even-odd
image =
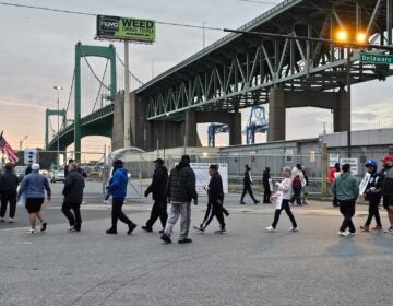
[[[17,197],[25,193],[26,199],[45,198],[44,189],[47,191],[48,197],[50,197],[51,190],[48,179],[44,175],[33,172],[23,178]]]

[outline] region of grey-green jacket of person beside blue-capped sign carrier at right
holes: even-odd
[[[352,174],[342,173],[334,180],[332,191],[338,201],[356,200],[359,197],[359,184]]]

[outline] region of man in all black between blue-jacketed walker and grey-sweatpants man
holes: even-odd
[[[168,170],[164,166],[164,161],[162,158],[157,158],[154,161],[155,170],[153,174],[152,184],[147,187],[145,191],[145,197],[150,193],[153,193],[154,204],[151,212],[151,217],[147,220],[146,225],[142,226],[142,229],[146,232],[153,232],[153,225],[159,217],[163,228],[165,228],[166,221],[168,219],[167,213],[167,199],[166,199],[166,185],[168,181]],[[159,233],[164,233],[159,231]]]

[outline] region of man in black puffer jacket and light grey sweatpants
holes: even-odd
[[[167,184],[167,202],[171,204],[169,217],[165,225],[160,239],[167,244],[171,243],[172,228],[181,216],[179,244],[189,244],[188,237],[191,223],[191,201],[198,205],[198,193],[195,189],[195,173],[190,167],[190,156],[182,155],[180,163],[171,169]]]

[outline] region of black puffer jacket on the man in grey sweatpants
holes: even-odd
[[[167,184],[167,197],[172,203],[198,201],[195,174],[187,163],[179,163],[171,169]]]

